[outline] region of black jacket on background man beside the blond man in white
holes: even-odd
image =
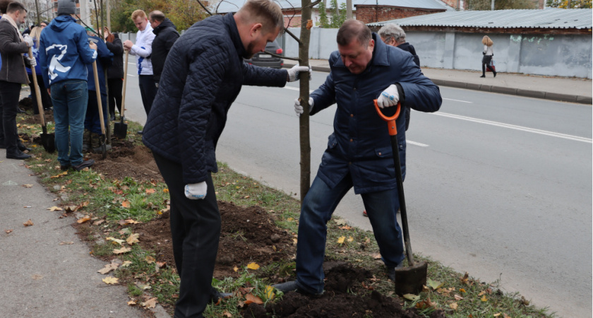
[[[157,26],[152,33],[155,33],[155,40],[152,41],[152,74],[155,76],[155,81],[160,80],[160,74],[164,66],[164,60],[167,59],[167,54],[173,46],[173,43],[179,39],[179,33],[175,25],[165,18],[162,23]]]

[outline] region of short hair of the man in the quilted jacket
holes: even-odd
[[[241,13],[245,23],[261,23],[268,33],[284,28],[282,9],[270,0],[247,0],[237,13]]]

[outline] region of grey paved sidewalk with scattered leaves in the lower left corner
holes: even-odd
[[[6,159],[0,149],[1,317],[147,317],[126,304],[125,285],[103,283],[107,275],[97,271],[107,263],[90,256],[71,226],[75,218],[47,210],[60,197],[37,182],[25,163]],[[25,227],[27,220],[33,225]],[[156,317],[169,317],[157,310]]]

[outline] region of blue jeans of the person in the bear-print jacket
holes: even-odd
[[[62,81],[53,84],[51,88],[58,161],[60,165],[80,165],[83,163],[83,132],[88,102],[87,81]]]

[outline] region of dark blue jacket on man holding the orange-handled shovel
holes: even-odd
[[[392,84],[398,86],[402,107],[421,112],[436,112],[443,102],[438,86],[426,78],[414,63],[412,54],[385,45],[373,33],[373,58],[360,74],[353,74],[344,65],[339,52],[330,55],[330,74],[311,93],[311,115],[337,104],[334,132],[329,136],[317,172],[323,182],[334,187],[350,174],[355,194],[396,189],[393,152],[388,124],[379,117],[373,105],[379,95]],[[389,107],[395,108],[395,107]],[[385,114],[395,110],[385,110]],[[405,117],[396,120],[402,175],[405,174]]]

